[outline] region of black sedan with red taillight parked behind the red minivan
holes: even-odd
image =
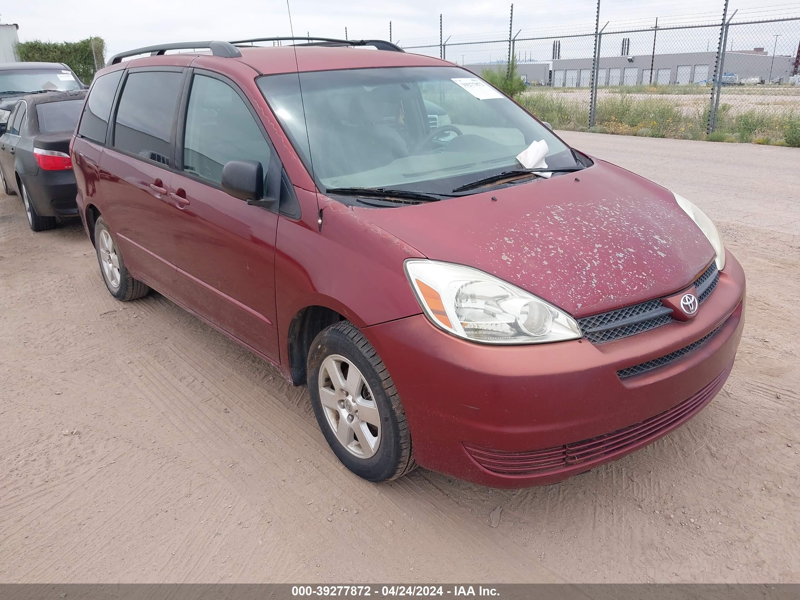
[[[70,138],[86,90],[22,96],[0,136],[0,178],[6,194],[20,194],[30,229],[54,229],[56,218],[78,215]]]

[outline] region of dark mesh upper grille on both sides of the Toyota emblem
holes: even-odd
[[[712,262],[694,280],[698,292],[698,302],[708,298],[719,281],[717,265]],[[623,306],[605,313],[593,314],[590,317],[578,319],[583,337],[593,344],[602,344],[611,340],[626,338],[629,335],[640,334],[666,325],[672,321],[672,310],[664,306],[661,298],[647,300],[631,306]]]

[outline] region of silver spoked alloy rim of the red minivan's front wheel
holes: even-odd
[[[319,369],[319,398],[336,439],[350,454],[370,458],[381,443],[381,415],[358,367],[331,354]]]

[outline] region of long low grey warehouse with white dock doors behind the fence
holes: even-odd
[[[650,62],[653,62],[652,81],[659,85],[702,83],[714,77],[716,52],[685,52],[681,54],[640,54],[600,58],[598,86],[635,86],[650,83]],[[773,64],[774,60],[774,64]],[[766,81],[782,78],[787,82],[794,57],[775,56],[755,50],[729,50],[725,53],[725,73],[736,74],[738,80],[760,78]],[[591,58],[562,58],[553,61],[554,87],[589,87],[592,78]]]

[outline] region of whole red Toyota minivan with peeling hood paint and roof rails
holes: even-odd
[[[71,157],[110,293],[158,290],[307,384],[373,482],[559,482],[733,366],[745,276],[702,210],[389,42],[117,55]]]

